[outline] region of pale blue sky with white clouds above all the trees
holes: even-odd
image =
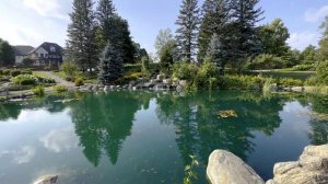
[[[94,0],[95,1],[95,0]],[[149,53],[161,28],[175,32],[175,21],[181,0],[114,0],[118,13],[128,20],[133,41]],[[199,1],[201,5],[203,0]],[[328,15],[328,0],[260,0],[266,18],[261,24],[277,18],[290,31],[291,47],[304,49],[317,45],[318,28]],[[0,0],[0,38],[12,45],[55,42],[65,46],[70,23],[72,0]]]

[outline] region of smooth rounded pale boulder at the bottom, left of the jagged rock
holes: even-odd
[[[209,158],[207,176],[211,184],[263,184],[262,179],[242,159],[224,150]]]

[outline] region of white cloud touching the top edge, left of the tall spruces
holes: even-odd
[[[62,9],[63,1],[60,1],[62,0],[23,0],[23,4],[43,16],[68,19],[68,14]]]

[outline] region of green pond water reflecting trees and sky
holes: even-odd
[[[65,101],[63,99],[77,99]],[[238,117],[218,118],[234,110]],[[265,180],[276,162],[328,143],[328,97],[249,92],[110,92],[0,105],[0,183],[58,174],[60,184],[206,182],[209,154],[230,150]]]

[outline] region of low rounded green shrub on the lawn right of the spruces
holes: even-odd
[[[251,70],[278,69],[283,68],[284,61],[281,57],[269,54],[261,54],[255,57],[247,66]]]

